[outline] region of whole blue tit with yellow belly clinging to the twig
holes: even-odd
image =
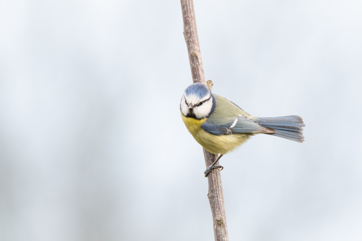
[[[220,154],[205,171],[207,176],[227,152],[252,135],[265,133],[303,142],[303,120],[299,116],[253,117],[230,100],[213,94],[209,87],[194,83],[186,88],[180,103],[181,117],[195,140],[207,151]]]

